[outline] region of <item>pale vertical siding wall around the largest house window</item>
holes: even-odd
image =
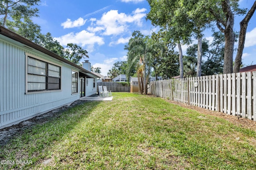
[[[68,66],[61,67],[60,91],[25,94],[25,52],[62,64],[0,39],[0,129],[79,99],[78,93],[71,93],[72,68]]]

